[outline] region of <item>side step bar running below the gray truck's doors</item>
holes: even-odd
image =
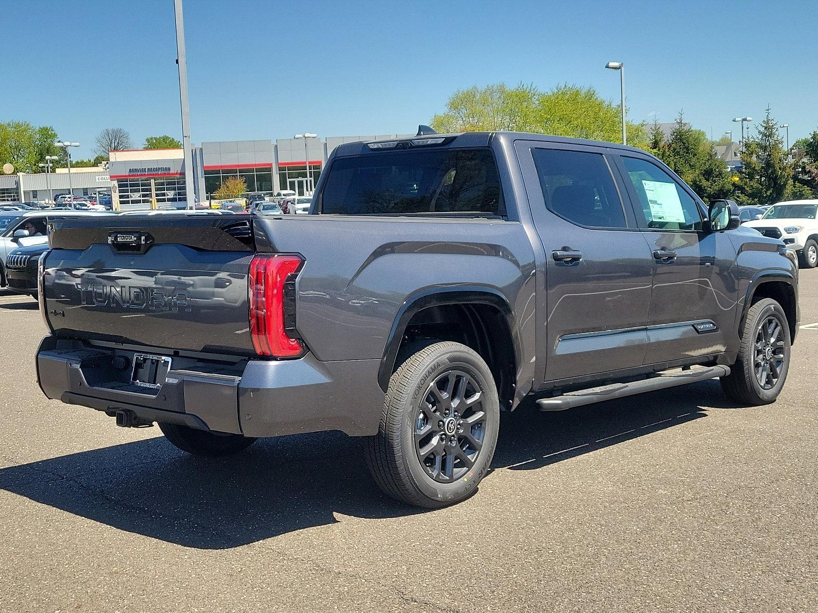
[[[624,398],[642,392],[654,392],[654,390],[663,390],[665,387],[675,387],[676,385],[705,381],[715,377],[726,377],[728,374],[730,374],[730,366],[717,365],[693,368],[682,370],[681,373],[659,374],[657,377],[632,383],[611,383],[600,387],[589,387],[577,392],[568,392],[553,398],[541,398],[537,400],[537,406],[541,411],[564,411],[573,409],[575,406],[591,405],[603,400]]]

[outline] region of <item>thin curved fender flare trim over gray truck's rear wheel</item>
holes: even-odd
[[[403,340],[403,333],[406,332],[411,318],[426,308],[449,304],[486,304],[496,307],[506,319],[511,338],[514,341],[515,362],[519,366],[522,360],[522,343],[519,340],[517,320],[508,300],[497,289],[486,285],[457,285],[454,287],[421,289],[410,294],[403,302],[400,309],[398,309],[398,314],[395,315],[392,329],[389,330],[384,355],[381,357],[378,369],[378,384],[384,392],[389,388],[389,378],[392,376],[395,360],[398,359],[398,350]]]

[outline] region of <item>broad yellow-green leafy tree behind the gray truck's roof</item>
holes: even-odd
[[[560,85],[541,92],[533,85],[505,83],[454,92],[446,110],[434,115],[438,132],[515,130],[618,142],[620,106],[605,101],[592,87]],[[647,146],[642,123],[627,123],[628,142]]]

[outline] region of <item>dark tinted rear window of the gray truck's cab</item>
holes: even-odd
[[[338,158],[319,198],[322,213],[343,215],[504,211],[497,163],[489,149]]]

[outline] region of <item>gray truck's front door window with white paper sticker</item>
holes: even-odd
[[[644,159],[621,157],[640,206],[636,216],[646,228],[701,230],[702,216],[695,200],[669,175]]]

